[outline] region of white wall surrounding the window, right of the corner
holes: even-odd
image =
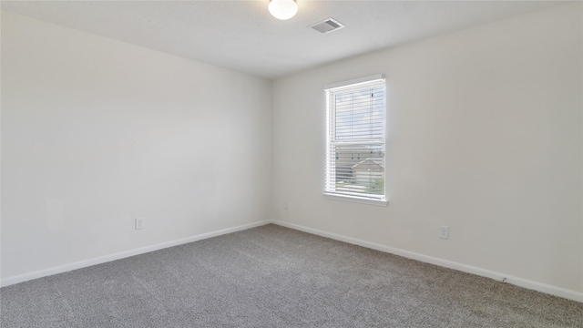
[[[274,219],[583,292],[581,17],[559,5],[275,81]],[[324,199],[322,87],[377,73],[389,205]]]

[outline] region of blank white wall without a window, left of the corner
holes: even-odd
[[[267,220],[270,175],[270,81],[2,13],[3,279]]]

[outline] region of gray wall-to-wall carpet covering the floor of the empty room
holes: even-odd
[[[10,327],[583,327],[583,303],[267,225],[8,286]]]

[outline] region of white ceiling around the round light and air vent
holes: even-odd
[[[277,20],[262,1],[2,1],[2,10],[277,78],[342,58],[519,15],[557,1],[308,1]],[[346,27],[307,26],[333,17]]]

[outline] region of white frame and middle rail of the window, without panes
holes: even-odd
[[[381,80],[384,82],[384,75],[377,74],[369,77],[361,77],[355,78],[348,81],[333,83],[324,87],[325,97],[326,97],[326,159],[325,159],[325,183],[324,183],[324,192],[323,195],[327,199],[332,200],[344,200],[344,201],[352,201],[352,202],[359,202],[364,204],[371,204],[371,205],[378,205],[378,206],[386,206],[388,204],[388,200],[386,198],[386,117],[387,117],[387,109],[386,109],[386,87],[384,89],[384,138],[374,138],[374,139],[366,139],[364,142],[370,142],[374,145],[381,145],[383,147],[384,153],[384,194],[383,195],[373,195],[373,194],[363,194],[363,193],[354,193],[349,191],[339,191],[336,190],[336,153],[335,153],[335,146],[336,145],[349,145],[351,140],[346,141],[339,141],[335,139],[335,104],[332,103],[331,94],[333,91],[342,90],[343,88],[348,87],[358,87],[358,85],[364,84],[372,84],[378,83]],[[363,139],[357,142],[358,144],[363,143]]]

